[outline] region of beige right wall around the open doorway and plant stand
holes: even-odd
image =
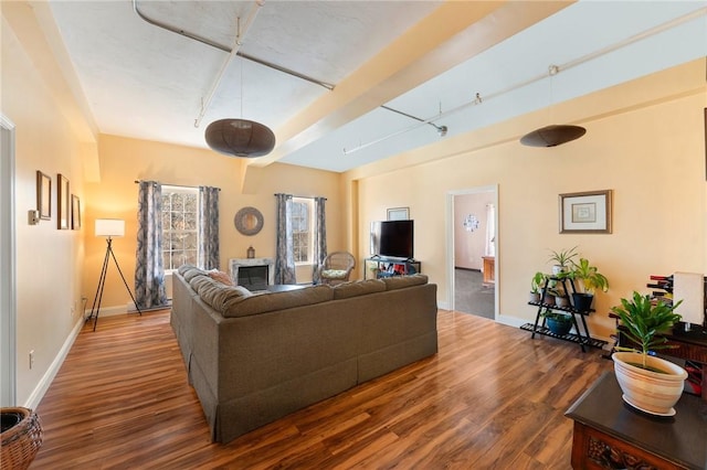
[[[558,120],[588,132],[556,148],[518,142],[547,124],[547,114],[538,113],[351,171],[347,178],[360,194],[361,246],[368,224],[386,207],[409,206],[415,258],[439,284],[440,305],[449,306],[449,194],[498,184],[502,321],[532,320],[536,309],[526,303],[530,277],[549,270],[548,249],[579,245],[611,282],[590,318],[592,333],[606,338],[613,329],[609,308],[633,290],[647,292],[651,274],[707,273],[704,77],[704,61],[697,61],[558,106]],[[387,191],[391,185],[397,191]],[[558,194],[605,189],[614,192],[613,234],[558,233]]]

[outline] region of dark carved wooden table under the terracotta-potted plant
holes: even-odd
[[[707,404],[683,394],[674,417],[656,417],[623,402],[605,372],[568,409],[574,420],[573,469],[706,469]]]

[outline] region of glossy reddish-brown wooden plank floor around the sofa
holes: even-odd
[[[85,328],[36,412],[31,469],[569,469],[567,408],[600,350],[440,311],[437,355],[229,445],[209,428],[169,311]]]

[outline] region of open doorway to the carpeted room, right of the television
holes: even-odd
[[[497,188],[451,192],[449,205],[450,305],[458,312],[495,320],[498,303]]]

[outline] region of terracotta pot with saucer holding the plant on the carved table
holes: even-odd
[[[653,415],[673,416],[673,406],[683,395],[687,372],[677,364],[659,357],[648,356],[646,365],[661,372],[653,372],[632,364],[641,364],[642,355],[633,352],[618,352],[612,355],[614,374],[629,405]]]

